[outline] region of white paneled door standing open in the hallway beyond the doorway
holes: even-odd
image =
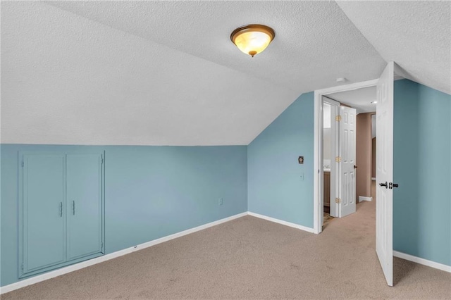
[[[355,213],[356,110],[340,106],[340,218]]]

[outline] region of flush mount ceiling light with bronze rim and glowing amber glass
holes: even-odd
[[[274,37],[276,33],[271,27],[259,24],[242,26],[233,30],[230,35],[233,44],[252,57],[264,51]]]

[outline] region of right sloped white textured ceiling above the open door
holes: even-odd
[[[385,61],[451,94],[450,1],[338,1]]]

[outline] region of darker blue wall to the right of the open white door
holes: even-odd
[[[395,81],[393,249],[451,265],[451,95]]]

